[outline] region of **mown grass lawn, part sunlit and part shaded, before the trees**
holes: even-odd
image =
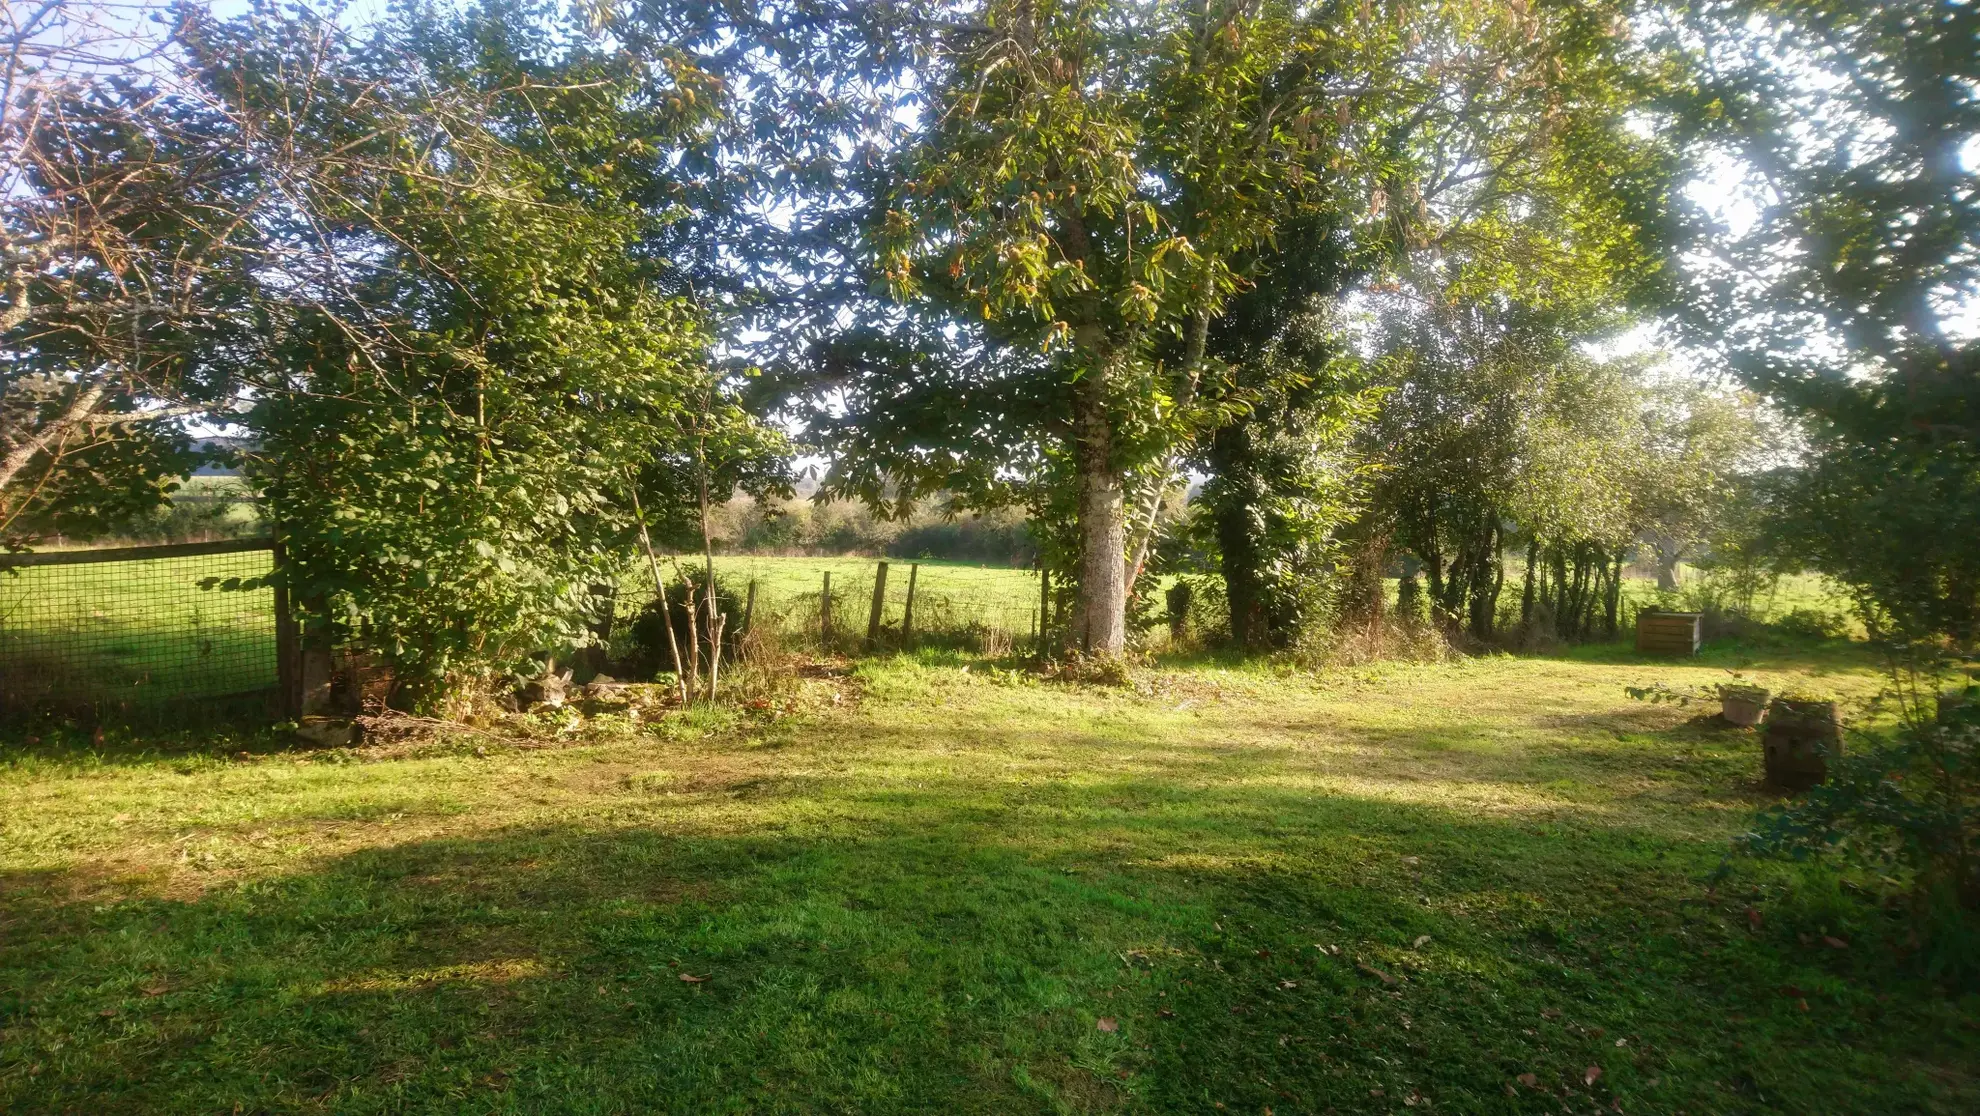
[[[1618,647],[1087,689],[940,653],[539,746],[12,742],[6,1112],[1974,1112],[1903,922],[1727,861]],[[1832,942],[1833,940],[1833,942]]]

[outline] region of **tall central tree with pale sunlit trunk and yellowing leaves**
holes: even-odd
[[[1168,487],[1245,259],[1281,220],[1374,190],[1412,16],[988,0],[942,24],[875,247],[903,299],[1043,350],[998,368],[1045,380],[1018,392],[1045,404],[1028,433],[1071,485],[1075,649],[1123,649],[1129,491]]]

